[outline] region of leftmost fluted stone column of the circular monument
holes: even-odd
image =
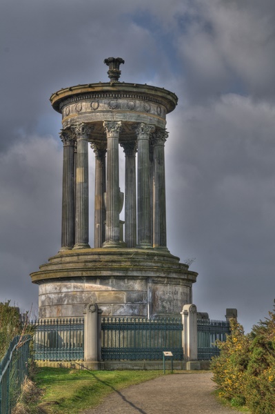
[[[63,187],[61,251],[74,246],[74,135],[71,130],[61,130],[63,142]]]

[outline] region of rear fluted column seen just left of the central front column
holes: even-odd
[[[94,248],[101,248],[105,242],[106,143],[102,141],[93,142],[91,148],[94,150],[96,161],[94,177]]]

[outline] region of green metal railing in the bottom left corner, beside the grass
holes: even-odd
[[[16,336],[0,362],[0,414],[10,414],[28,374],[30,335]]]

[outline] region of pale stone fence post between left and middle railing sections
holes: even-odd
[[[99,307],[90,303],[84,314],[84,361],[88,366],[97,369],[99,361]]]

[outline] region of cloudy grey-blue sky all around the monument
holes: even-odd
[[[122,57],[121,81],[179,97],[167,115],[167,246],[195,258],[198,311],[224,319],[237,308],[249,332],[275,298],[274,0],[0,8],[0,302],[35,311],[29,274],[60,248],[61,115],[50,95],[109,81],[103,60]],[[91,153],[91,185],[93,176]],[[92,226],[90,235],[92,244]]]

